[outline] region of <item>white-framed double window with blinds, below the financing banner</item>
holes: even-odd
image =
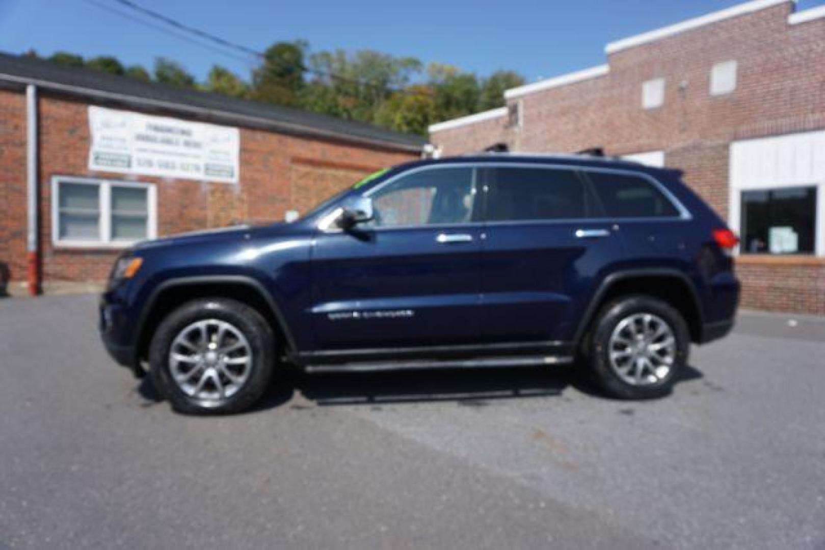
[[[155,186],[85,177],[52,178],[56,247],[125,248],[157,237]]]

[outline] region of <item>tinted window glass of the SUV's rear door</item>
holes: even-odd
[[[549,168],[491,168],[487,219],[575,219],[587,215],[587,190],[575,172]]]

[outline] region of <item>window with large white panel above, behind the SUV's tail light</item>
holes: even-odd
[[[825,256],[825,131],[730,147],[728,224],[739,254]]]

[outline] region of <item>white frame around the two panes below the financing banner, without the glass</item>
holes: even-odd
[[[100,212],[100,223],[98,225],[98,239],[65,239],[60,238],[60,185],[80,184],[87,186],[97,186],[98,211]],[[111,238],[111,188],[129,188],[146,190],[146,239],[158,237],[158,191],[150,183],[141,181],[120,181],[108,180],[92,177],[76,176],[54,176],[51,179],[51,205],[52,205],[52,244],[56,248],[111,248],[118,250],[128,248],[146,239],[135,239],[132,241],[112,240]]]

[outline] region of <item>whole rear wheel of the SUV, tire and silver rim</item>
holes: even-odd
[[[601,309],[587,356],[593,378],[611,397],[662,397],[687,364],[690,343],[687,324],[671,305],[625,296]]]

